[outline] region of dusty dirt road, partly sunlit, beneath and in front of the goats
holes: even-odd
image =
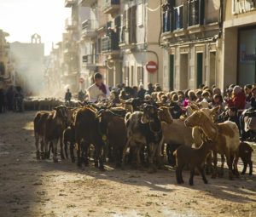
[[[207,176],[208,185],[195,176],[195,186],[184,171],[185,184],[177,186],[171,168],[148,174],[107,163],[102,173],[93,163],[81,169],[70,160],[38,161],[34,114],[0,115],[0,216],[256,216],[255,169],[235,180],[227,171]]]

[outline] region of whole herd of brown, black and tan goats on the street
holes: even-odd
[[[230,180],[238,176],[239,157],[244,163],[241,174],[246,172],[247,164],[252,174],[253,149],[240,142],[236,123],[214,123],[217,111],[218,107],[200,108],[194,103],[186,108],[183,117],[173,119],[172,107],[139,99],[124,100],[120,104],[103,100],[83,102],[78,107],[55,106],[52,111],[38,111],[34,117],[36,156],[46,159],[52,151],[53,161],[57,162],[60,141],[61,159],[68,157],[69,146],[74,163],[75,147],[79,167],[82,163],[88,166],[93,152],[95,167],[102,171],[108,158],[116,167],[124,169],[125,163],[131,163],[138,169],[148,167],[148,172],[153,173],[156,168],[165,167],[166,153],[168,163],[176,164],[177,183],[183,183],[182,170],[189,164],[189,184],[193,185],[195,168],[207,183],[206,161],[207,173],[211,173],[212,178],[217,176],[217,155],[220,154],[220,176],[224,174],[225,158]]]

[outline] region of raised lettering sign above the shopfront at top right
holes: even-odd
[[[254,10],[253,0],[232,0],[232,14],[242,14]]]

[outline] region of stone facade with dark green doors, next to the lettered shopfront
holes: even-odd
[[[219,85],[222,1],[167,0],[162,5],[161,46],[166,89]]]

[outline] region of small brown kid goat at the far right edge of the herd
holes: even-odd
[[[240,143],[238,157],[241,157],[241,160],[243,163],[243,169],[241,174],[245,174],[245,172],[247,171],[247,164],[249,164],[249,167],[250,167],[249,175],[253,174],[252,152],[253,152],[253,148],[247,142]],[[234,169],[235,169],[235,165],[234,165]]]

